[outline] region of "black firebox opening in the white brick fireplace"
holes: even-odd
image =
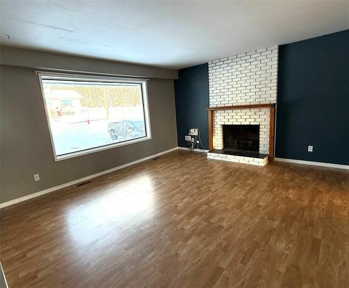
[[[259,152],[259,125],[223,125],[223,149]]]

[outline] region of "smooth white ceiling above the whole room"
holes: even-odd
[[[0,1],[2,45],[166,68],[349,29],[349,1]]]

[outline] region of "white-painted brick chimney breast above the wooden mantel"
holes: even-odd
[[[209,106],[276,103],[278,46],[209,61]]]

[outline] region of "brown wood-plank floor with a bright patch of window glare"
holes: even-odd
[[[1,211],[15,287],[349,287],[349,171],[174,151]]]

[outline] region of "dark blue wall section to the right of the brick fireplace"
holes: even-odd
[[[279,47],[276,157],[349,165],[349,30]]]

